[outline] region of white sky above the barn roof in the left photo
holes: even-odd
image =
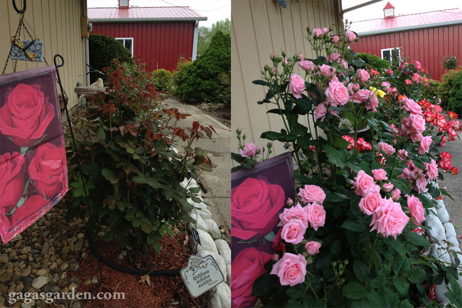
[[[118,0],[87,0],[89,8],[117,7]],[[130,7],[165,7],[188,6],[202,16],[206,21],[200,21],[199,26],[211,27],[214,23],[231,19],[231,0],[129,0]]]

